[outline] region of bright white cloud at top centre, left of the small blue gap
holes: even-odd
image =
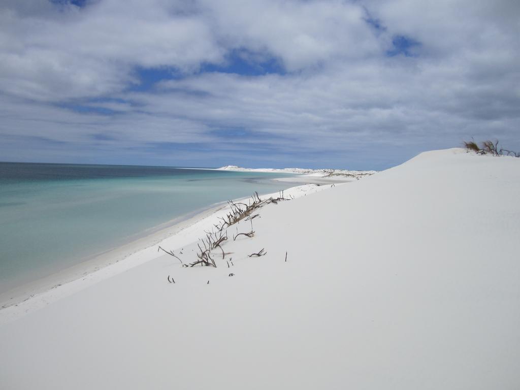
[[[205,0],[215,31],[229,47],[267,51],[289,71],[380,53],[362,7],[342,1]]]

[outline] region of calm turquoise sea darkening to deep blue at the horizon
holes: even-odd
[[[114,165],[0,163],[0,292],[283,176]]]

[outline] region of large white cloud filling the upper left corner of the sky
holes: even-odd
[[[38,15],[4,5],[2,90],[44,101],[94,97],[123,90],[136,66],[188,71],[222,60],[200,17],[172,15],[175,7],[163,3],[106,0],[81,10],[47,6]]]

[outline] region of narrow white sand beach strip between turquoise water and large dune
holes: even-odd
[[[334,184],[334,186],[339,184]],[[329,183],[330,186],[330,183]],[[299,198],[307,193],[316,193],[327,189],[326,186],[305,184],[292,187],[284,192],[285,197]],[[279,197],[280,193],[265,194],[263,197]],[[248,202],[249,199],[236,201]],[[218,204],[189,219],[181,219],[180,223],[160,229],[152,235],[142,237],[136,241],[115,248],[74,267],[64,269],[34,283],[20,286],[0,294],[3,298],[0,309],[0,324],[19,318],[33,310],[40,309],[49,303],[60,300],[64,296],[91,287],[102,280],[121,274],[130,268],[137,267],[164,256],[159,246],[167,250],[175,250],[176,255],[184,257],[186,263],[191,263],[196,257],[191,249],[197,249],[196,242],[205,236],[205,231],[214,229],[225,217],[231,207],[226,203]],[[187,250],[183,256],[184,246]],[[180,263],[178,263],[180,264]],[[5,308],[4,308],[5,307]]]

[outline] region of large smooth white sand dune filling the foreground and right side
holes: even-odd
[[[266,206],[230,268],[164,255],[2,324],[0,387],[519,388],[520,159],[327,188]]]

